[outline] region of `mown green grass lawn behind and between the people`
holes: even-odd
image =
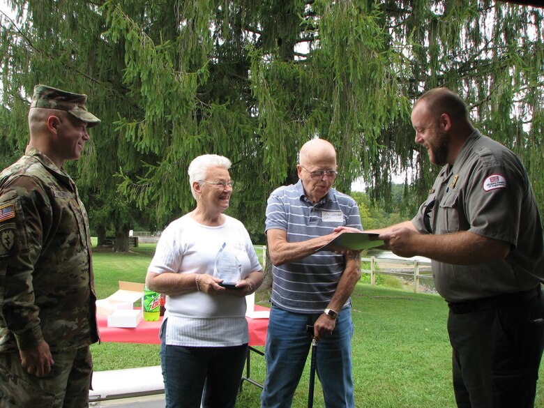
[[[129,254],[93,252],[98,298],[114,293],[119,280],[144,282],[154,244],[140,244]],[[257,255],[261,256],[257,250]],[[258,291],[256,303],[269,305],[269,293]],[[353,364],[356,407],[455,408],[451,385],[451,347],[446,333],[448,308],[437,295],[414,294],[359,283],[353,299]],[[319,346],[318,346],[319,347]],[[264,347],[257,347],[263,350]],[[95,370],[159,365],[158,345],[102,343],[92,345]],[[307,406],[309,361],[293,408]],[[541,377],[544,370],[541,368]],[[251,377],[262,383],[264,358],[253,354]],[[244,382],[237,408],[259,407],[261,389]],[[535,407],[544,408],[544,386],[538,384]],[[315,407],[323,407],[319,381]]]

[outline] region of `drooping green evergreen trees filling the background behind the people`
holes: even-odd
[[[437,168],[414,143],[411,104],[435,86],[467,101],[483,133],[523,160],[540,208],[543,9],[490,0],[4,0],[0,164],[27,144],[33,86],[87,93],[103,120],[70,163],[103,239],[128,249],[190,211],[190,160],[233,162],[229,213],[262,234],[266,198],[296,181],[312,137],[338,150],[349,192],[363,179],[391,209],[406,176],[410,218]],[[409,172],[407,172],[409,170]],[[372,217],[368,218],[369,220]],[[367,226],[365,226],[367,227]]]

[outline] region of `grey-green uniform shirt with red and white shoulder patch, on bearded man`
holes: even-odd
[[[435,285],[446,301],[522,292],[544,281],[541,218],[527,172],[512,151],[478,130],[453,166],[441,169],[412,223],[422,233],[469,231],[511,245],[506,259],[471,265],[433,260]]]

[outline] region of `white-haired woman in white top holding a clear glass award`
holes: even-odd
[[[234,407],[248,350],[245,296],[264,278],[243,224],[229,207],[230,161],[206,154],[188,174],[197,207],[158,242],[146,285],[166,294],[160,364],[166,407]]]

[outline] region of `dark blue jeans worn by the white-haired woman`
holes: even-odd
[[[234,408],[248,345],[183,347],[165,345],[161,330],[160,365],[166,408]]]

